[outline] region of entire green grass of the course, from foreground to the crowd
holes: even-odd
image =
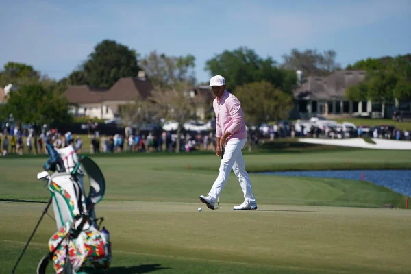
[[[247,169],[410,168],[411,162],[407,151],[299,151],[286,146],[291,147],[245,153]],[[215,155],[94,159],[107,181],[97,215],[105,217],[112,239],[109,274],[409,273],[410,214],[380,208],[384,203],[403,208],[406,197],[360,178],[251,173],[258,210],[235,212],[232,206],[242,201],[242,192],[233,174],[221,194],[220,210],[208,210],[198,200],[216,178]],[[36,181],[44,162],[41,157],[0,158],[0,199],[46,201],[48,190]],[[202,212],[197,212],[199,206]],[[0,201],[0,273],[10,273],[44,207]],[[35,272],[55,230],[46,216],[16,273]]]

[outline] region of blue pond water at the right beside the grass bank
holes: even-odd
[[[258,174],[361,180],[362,173],[365,181],[411,197],[411,170],[273,171]]]

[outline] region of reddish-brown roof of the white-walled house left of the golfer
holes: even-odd
[[[70,103],[102,103],[104,101],[134,101],[141,96],[149,97],[153,84],[146,79],[125,77],[111,88],[92,88],[87,85],[69,86],[64,93]]]

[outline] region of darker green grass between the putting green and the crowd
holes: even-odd
[[[219,158],[209,154],[105,155],[94,159],[108,182],[105,199],[110,200],[195,202],[199,194],[209,190],[219,166]],[[44,162],[45,158],[36,157],[0,158],[3,175],[0,198],[47,199],[49,193],[42,182],[35,179]],[[245,155],[245,162],[248,171],[411,168],[411,155],[407,151],[375,150],[251,153]],[[252,174],[251,179],[259,201],[266,204],[350,206],[353,203],[352,206],[379,207],[388,201],[395,205],[403,203],[403,197],[366,182],[256,174]],[[368,188],[366,191],[376,196],[358,199],[364,185]],[[240,201],[242,194],[234,175],[229,177],[225,189],[221,199],[230,203]]]

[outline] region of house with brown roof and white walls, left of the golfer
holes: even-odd
[[[134,103],[139,97],[145,99],[153,89],[145,77],[124,77],[109,89],[69,86],[65,95],[74,116],[113,119],[119,116],[121,105]]]

